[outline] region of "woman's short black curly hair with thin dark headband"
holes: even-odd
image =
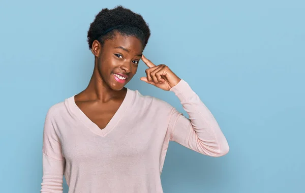
[[[113,30],[108,31],[113,27]],[[150,37],[148,24],[140,14],[122,6],[111,10],[105,8],[96,15],[95,20],[90,24],[87,35],[89,49],[92,48],[95,40],[103,45],[106,39],[114,38],[117,32],[124,36],[135,36],[142,42],[143,49]]]

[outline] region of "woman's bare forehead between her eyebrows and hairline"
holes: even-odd
[[[134,36],[124,36],[118,33],[115,34],[114,38],[105,40],[105,46],[112,48],[121,46],[133,52],[143,51],[142,42],[138,38]]]

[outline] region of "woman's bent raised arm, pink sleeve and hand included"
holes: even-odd
[[[148,67],[141,80],[167,91],[173,91],[189,118],[172,110],[168,132],[170,140],[199,153],[219,157],[228,153],[229,145],[218,122],[189,84],[178,78],[167,66],[154,65],[142,55]]]

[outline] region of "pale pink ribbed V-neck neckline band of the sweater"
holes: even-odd
[[[128,113],[127,111],[129,110],[129,106],[134,98],[134,92],[127,88],[127,93],[125,95],[123,102],[121,103],[117,111],[114,113],[113,117],[110,119],[110,121],[105,126],[105,128],[101,129],[96,123],[90,120],[82,112],[82,110],[76,105],[75,95],[67,99],[68,106],[72,114],[76,116],[78,119],[80,119],[81,122],[86,127],[88,127],[90,131],[102,137],[105,137],[107,134],[109,134],[113,130],[117,122],[124,116],[124,114]]]

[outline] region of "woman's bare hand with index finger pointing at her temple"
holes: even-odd
[[[147,77],[141,77],[140,80],[167,91],[180,82],[181,79],[177,77],[177,75],[175,75],[167,66],[156,66],[144,55],[142,55],[141,59],[148,69],[145,70]]]

